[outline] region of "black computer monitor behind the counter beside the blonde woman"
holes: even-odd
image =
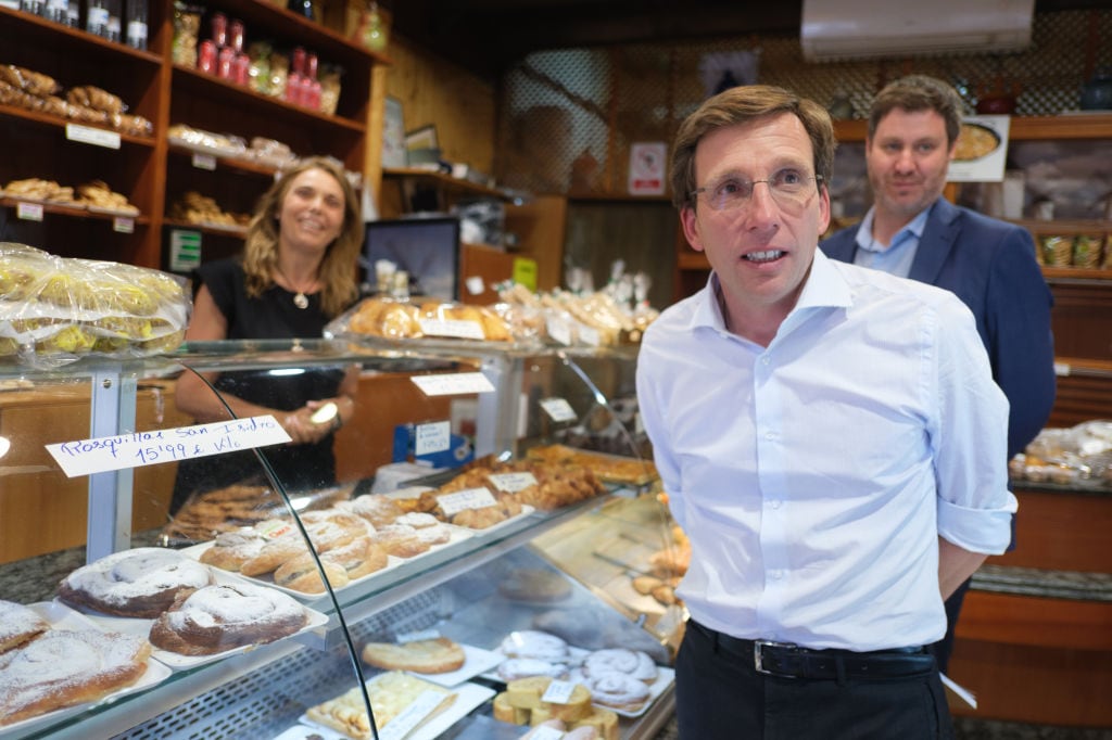
[[[364,258],[367,280],[375,262],[389,260],[409,273],[409,292],[459,300],[459,219],[454,216],[367,221]]]

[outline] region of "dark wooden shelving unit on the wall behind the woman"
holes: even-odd
[[[374,110],[383,93],[373,90],[373,79],[377,67],[389,63],[386,57],[266,0],[214,0],[208,9],[242,20],[246,44],[266,39],[276,49],[299,46],[317,53],[322,64],[341,67],[336,114],[294,106],[175,63],[172,0],[158,0],[149,9],[149,51],[0,8],[0,30],[6,39],[0,63],[48,74],[63,90],[82,84],[107,90],[129,106],[128,112],[148,119],[153,128],[150,137],[117,133],[0,104],[0,130],[8,154],[0,162],[0,187],[11,180],[41,178],[76,188],[99,179],[127,196],[140,211],[131,221],[120,222],[112,216],[50,203],[43,203],[41,210],[29,209],[21,201],[2,198],[8,238],[64,257],[163,269],[168,267],[168,228],[187,228],[200,232],[206,241],[211,239],[214,256],[234,251],[241,231],[176,223],[168,218],[171,204],[187,190],[197,190],[215,198],[225,210],[250,212],[276,168],[224,156],[199,160],[195,152],[169,143],[168,130],[178,123],[247,141],[255,137],[275,139],[297,156],[335,157],[365,178],[375,171],[378,147],[370,142],[379,138],[380,118]],[[203,28],[199,36],[206,38]],[[97,143],[88,143],[89,139]]]

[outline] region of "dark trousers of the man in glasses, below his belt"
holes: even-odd
[[[676,658],[681,740],[952,740],[937,670],[887,679],[758,673],[688,622]]]

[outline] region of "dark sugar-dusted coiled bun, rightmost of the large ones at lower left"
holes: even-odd
[[[274,642],[297,632],[305,622],[305,609],[281,591],[222,583],[179,594],[155,620],[150,642],[183,656],[211,656]]]

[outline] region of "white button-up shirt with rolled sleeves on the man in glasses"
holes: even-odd
[[[937,536],[1010,539],[1007,401],[952,293],[816,250],[767,348],[725,329],[717,278],[645,332],[637,394],[676,521],[678,594],[739,638],[935,642]]]

